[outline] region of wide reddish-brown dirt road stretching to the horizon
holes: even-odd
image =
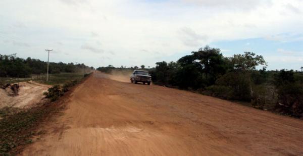
[[[303,121],[94,73],[23,155],[303,155]]]

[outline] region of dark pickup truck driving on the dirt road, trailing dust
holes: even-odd
[[[143,84],[147,83],[150,85],[151,76],[145,70],[134,70],[130,75],[130,82],[135,84],[142,82]]]

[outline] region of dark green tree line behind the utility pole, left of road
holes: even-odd
[[[85,66],[84,64],[73,63],[49,63],[49,73],[58,74],[82,72],[82,70],[93,69],[93,67]],[[45,74],[47,70],[47,62],[39,59],[22,59],[12,55],[0,55],[0,77],[30,77],[32,74]]]

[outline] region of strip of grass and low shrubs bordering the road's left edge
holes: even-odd
[[[35,141],[32,140],[33,136],[43,133],[43,131],[38,129],[38,125],[49,120],[52,114],[60,113],[64,108],[64,105],[58,102],[54,103],[54,101],[58,100],[73,86],[82,82],[89,75],[85,74],[81,79],[65,77],[65,79],[70,79],[70,81],[66,81],[61,85],[56,84],[44,92],[44,95],[50,101],[43,103],[41,106],[31,109],[0,109],[0,155],[18,154],[24,145]]]

